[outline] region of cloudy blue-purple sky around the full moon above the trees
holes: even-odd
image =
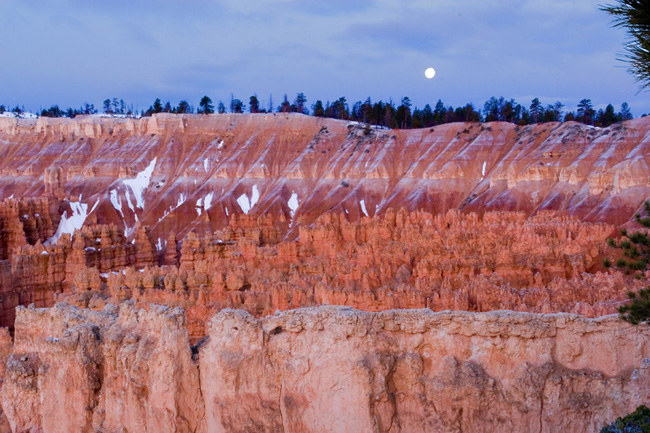
[[[613,2],[614,0],[611,0]],[[607,3],[603,0],[602,3]],[[589,0],[0,0],[0,104],[538,97],[650,112]],[[424,70],[434,67],[435,78]]]

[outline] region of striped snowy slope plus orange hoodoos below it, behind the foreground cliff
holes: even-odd
[[[193,338],[224,307],[612,313],[640,283],[598,273],[592,222],[650,195],[648,131],[0,119],[0,325],[57,298],[182,306]]]

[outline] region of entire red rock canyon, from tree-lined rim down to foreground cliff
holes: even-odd
[[[643,286],[602,261],[650,198],[649,134],[646,118],[419,130],[284,113],[0,118],[0,326],[15,331],[13,347],[9,332],[0,342],[14,352],[0,419],[14,431],[597,430],[650,398],[631,373],[648,367],[644,331],[584,318]],[[16,316],[57,301],[81,309]],[[323,305],[372,313],[274,314]],[[495,310],[519,313],[480,313]],[[601,349],[625,334],[634,356],[597,359],[576,337],[591,329]],[[503,367],[510,357],[521,362]],[[143,362],[180,382],[129,376]],[[211,371],[249,379],[233,391]],[[115,400],[124,392],[133,409]],[[66,419],[46,403],[64,395]]]

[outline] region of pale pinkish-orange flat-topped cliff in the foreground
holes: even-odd
[[[184,320],[19,308],[12,428],[579,433],[650,401],[650,330],[614,316],[224,310],[193,349]]]

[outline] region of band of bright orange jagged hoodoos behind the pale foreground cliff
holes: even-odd
[[[619,272],[603,272],[602,255],[610,250],[604,241],[613,226],[548,212],[479,218],[388,210],[356,222],[326,214],[301,228],[295,241],[282,241],[274,227],[270,217],[245,216],[210,235],[190,232],[178,267],[93,271],[87,252],[87,267],[74,266],[78,282],[56,299],[96,309],[127,299],[181,306],[197,341],[223,308],[255,316],[335,304],[367,311],[510,309],[596,317],[615,313],[627,290],[642,287]],[[160,260],[171,257],[168,251]],[[86,282],[88,275],[95,279]]]

